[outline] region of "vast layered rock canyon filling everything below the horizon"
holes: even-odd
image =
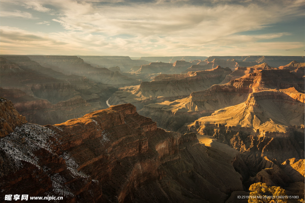
[[[2,196],[230,203],[262,182],[304,197],[304,57],[0,59]]]

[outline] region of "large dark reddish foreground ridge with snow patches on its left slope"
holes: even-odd
[[[0,139],[1,195],[65,202],[224,202],[242,190],[238,152],[156,127],[131,104],[62,124],[23,124]]]

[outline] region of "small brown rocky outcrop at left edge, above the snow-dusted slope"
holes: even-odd
[[[0,98],[0,137],[5,137],[13,132],[16,126],[26,123],[13,106],[13,103],[5,98]]]

